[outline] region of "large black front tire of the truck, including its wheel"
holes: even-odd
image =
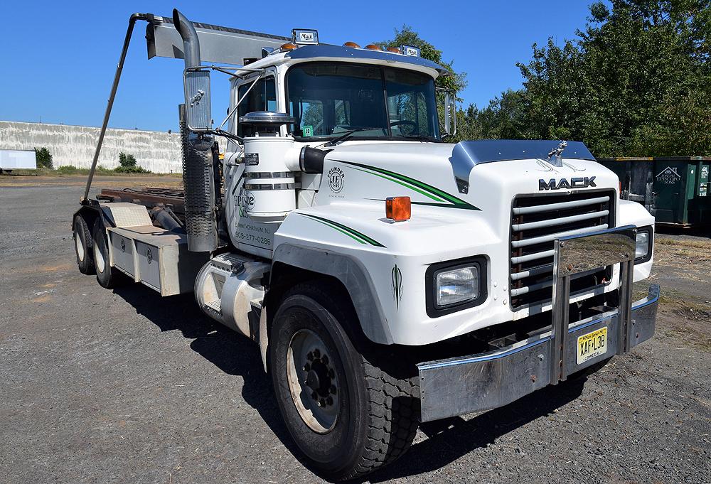
[[[338,291],[300,284],[282,299],[269,337],[272,384],[289,434],[307,463],[333,480],[394,461],[417,432],[415,379],[373,365],[353,334],[358,324]]]

